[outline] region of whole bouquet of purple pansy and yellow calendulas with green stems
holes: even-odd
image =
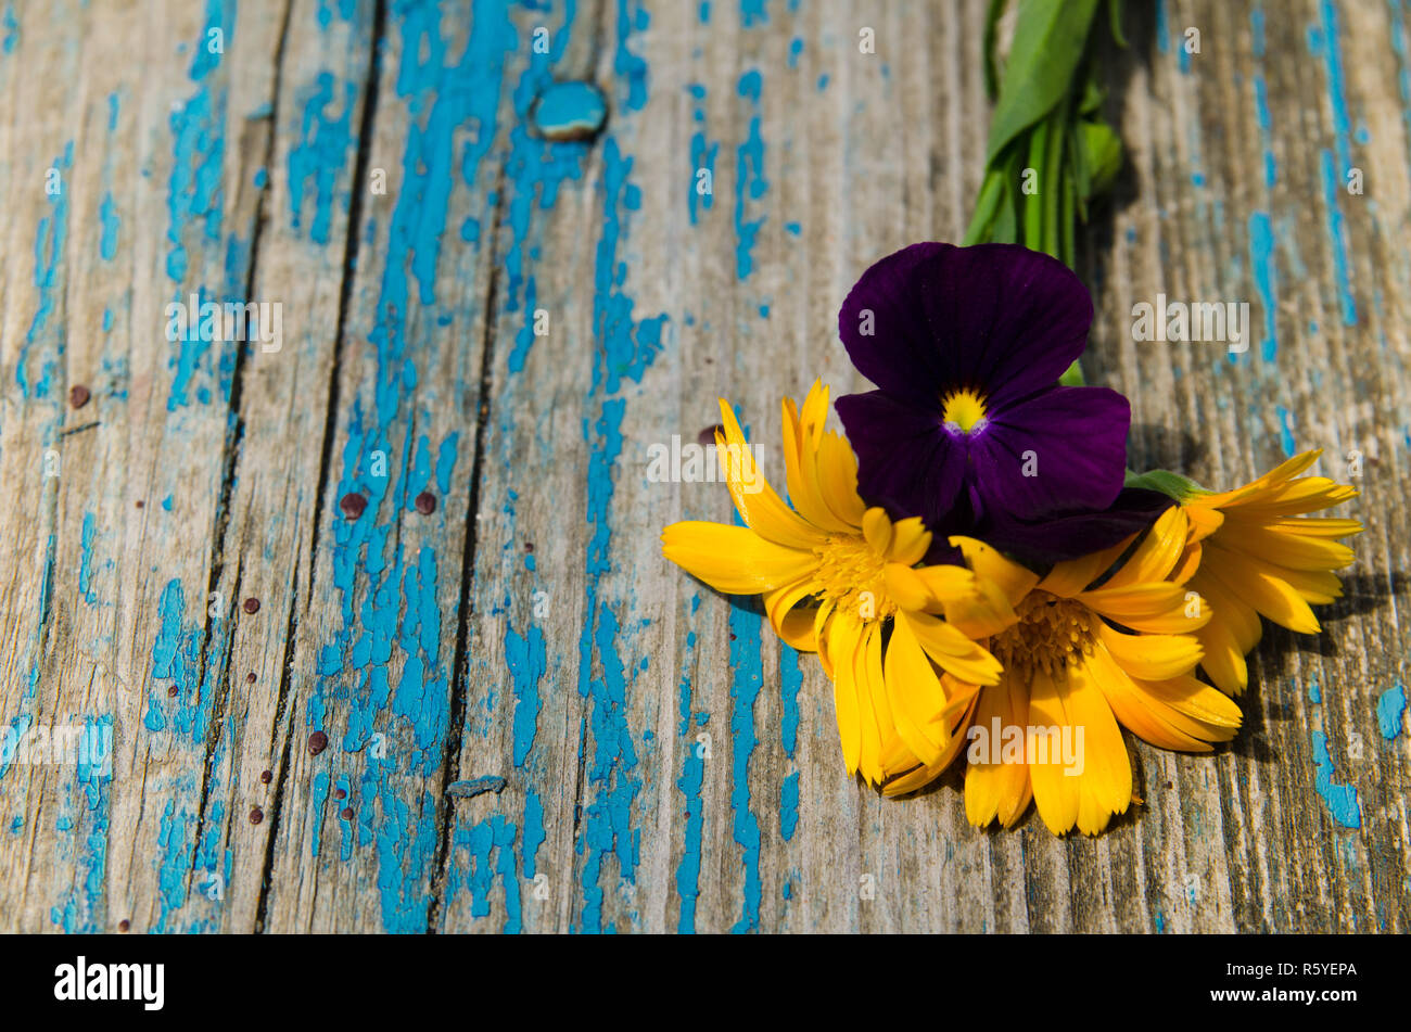
[[[1357,493],[1308,475],[1318,451],[1223,492],[1132,472],[1127,399],[1082,385],[1092,302],[1055,255],[1112,173],[1095,6],[1062,6],[1085,11],[1077,35],[1055,3],[1022,8],[971,227],[986,242],[906,247],[844,300],[842,344],[876,385],[837,400],[847,437],[823,383],[785,399],[786,500],[722,399],[744,526],[662,534],[818,654],[851,774],[896,797],[964,764],[976,826],[1033,801],[1054,833],[1101,832],[1134,799],[1122,727],[1191,753],[1230,740],[1261,620],[1316,633],[1311,605],[1340,595],[1340,539],[1362,530],[1309,515]],[[1012,189],[1030,158],[1048,200]]]

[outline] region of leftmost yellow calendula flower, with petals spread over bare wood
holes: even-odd
[[[962,567],[912,571],[931,534],[920,519],[893,523],[858,496],[852,448],[824,426],[821,382],[801,412],[793,399],[783,402],[793,508],[765,482],[724,399],[720,412],[717,454],[745,526],[673,523],[662,532],[663,554],[717,591],[762,595],[775,632],[818,653],[834,684],[849,773],[882,784],[940,763],[955,716],[940,678],[988,685],[999,678],[995,657],[941,612],[947,603],[959,610],[985,589]],[[906,596],[892,591],[899,577]]]

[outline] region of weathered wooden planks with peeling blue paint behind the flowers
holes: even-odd
[[[7,6],[0,726],[113,751],[0,764],[0,928],[1407,930],[1411,11],[1130,8],[1089,382],[1133,465],[1360,457],[1367,532],[1230,747],[1129,736],[1144,804],[1055,839],[847,778],[816,658],[660,557],[722,485],[648,477],[724,396],[782,478],[780,398],[862,385],[848,288],[969,217],[983,0]],[[193,292],[281,347],[168,341]],[[1134,341],[1157,293],[1250,350]]]

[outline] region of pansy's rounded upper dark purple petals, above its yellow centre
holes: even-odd
[[[969,386],[991,409],[1054,383],[1091,323],[1072,271],[1017,244],[913,244],[864,272],[838,312],[852,364],[883,391],[938,400]]]

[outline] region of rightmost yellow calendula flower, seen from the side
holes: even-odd
[[[1191,488],[1181,500],[1189,519],[1184,563],[1195,570],[1189,584],[1213,609],[1197,632],[1205,649],[1201,665],[1232,695],[1249,684],[1245,656],[1259,644],[1260,616],[1314,634],[1321,627],[1309,603],[1342,596],[1332,571],[1355,555],[1338,539],[1360,533],[1362,523],[1304,513],[1340,505],[1357,489],[1326,477],[1300,477],[1321,454],[1305,451],[1233,491]]]

